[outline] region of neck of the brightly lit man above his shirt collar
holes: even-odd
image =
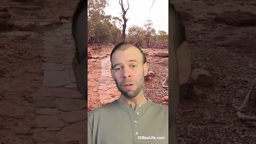
[[[118,101],[120,103],[122,103],[123,105],[132,105],[133,109],[136,109],[137,105],[143,105],[147,102],[147,99],[144,97],[143,94],[139,94],[137,95],[137,97],[129,99],[126,98],[123,94],[121,95],[121,97],[118,99]]]

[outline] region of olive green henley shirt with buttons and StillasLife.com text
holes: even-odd
[[[123,105],[117,100],[88,115],[89,144],[167,144],[168,107],[151,100],[143,105]]]

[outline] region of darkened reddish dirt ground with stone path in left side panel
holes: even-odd
[[[15,26],[0,33],[1,143],[87,141],[87,102],[71,66],[77,2],[1,1],[1,14],[9,13]]]

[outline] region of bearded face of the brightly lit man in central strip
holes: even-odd
[[[116,50],[111,58],[111,74],[118,90],[126,98],[135,98],[142,92],[144,76],[148,73],[147,63],[143,65],[142,54],[134,46]]]

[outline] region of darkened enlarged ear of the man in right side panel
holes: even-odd
[[[186,83],[191,73],[190,49],[188,42],[184,41],[177,50],[180,85]]]

